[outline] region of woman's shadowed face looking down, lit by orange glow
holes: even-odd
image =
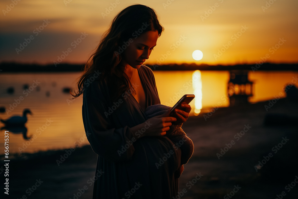
[[[147,31],[137,38],[131,38],[125,44],[129,45],[122,53],[122,64],[138,69],[149,58],[153,47],[156,46],[158,31]]]

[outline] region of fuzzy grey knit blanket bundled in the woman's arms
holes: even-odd
[[[146,108],[145,115],[147,118],[152,118],[157,115],[162,115],[167,112],[168,109],[172,107],[155,104]],[[181,149],[181,164],[186,164],[190,157],[193,155],[193,141],[188,138],[181,128],[182,124],[173,124],[170,126],[170,130],[167,131],[167,136],[173,143],[175,147],[180,147]]]

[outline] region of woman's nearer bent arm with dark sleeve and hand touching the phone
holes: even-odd
[[[174,117],[166,117],[165,114],[148,119],[144,123],[134,127],[111,128],[112,121],[106,117],[105,105],[102,101],[91,95],[83,97],[83,123],[87,139],[95,153],[108,161],[124,161],[132,157],[134,142],[144,136],[162,136],[169,130]],[[145,132],[141,131],[145,128]]]

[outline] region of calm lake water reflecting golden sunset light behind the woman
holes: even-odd
[[[173,106],[182,95],[195,94],[195,100],[190,103],[190,115],[195,115],[195,108],[200,106],[202,112],[218,104],[228,107],[229,100],[226,96],[229,71],[201,71],[201,81],[193,81],[194,72],[153,71],[161,104]],[[1,73],[0,106],[11,111],[0,113],[0,118],[6,120],[13,115],[22,115],[25,108],[29,108],[33,113],[27,115],[25,129],[10,130],[10,154],[89,144],[82,120],[83,95],[69,100],[72,96],[62,92],[65,87],[72,88],[72,91],[77,90],[76,79],[80,75],[81,72]],[[280,93],[285,97],[283,87],[291,81],[295,82],[297,75],[298,72],[248,72],[249,81],[254,82],[254,95],[248,101],[266,101]],[[24,84],[29,88],[32,86],[32,91],[24,91]],[[38,87],[35,87],[35,84],[38,84]],[[295,84],[297,86],[297,82]],[[7,93],[8,87],[14,88],[13,94]],[[1,128],[3,126],[1,123]],[[4,130],[1,129],[1,135],[4,135]],[[21,132],[24,131],[27,131],[27,137],[31,137],[30,141],[23,138]],[[1,141],[0,147],[4,148],[4,141]],[[4,154],[4,150],[1,150],[0,154]]]

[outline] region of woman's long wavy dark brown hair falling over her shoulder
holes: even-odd
[[[74,97],[72,99],[83,94],[84,85],[89,80],[89,76],[94,74],[94,71],[101,72],[100,81],[106,79],[109,89],[115,91],[110,92],[112,101],[129,90],[128,77],[124,73],[125,67],[120,64],[122,53],[119,53],[119,49],[124,42],[132,38],[134,32],[139,30],[143,24],[149,24],[145,30],[143,29],[143,33],[157,30],[158,37],[160,37],[164,30],[164,27],[159,24],[155,10],[145,5],[131,5],[115,16],[110,28],[103,34],[95,53],[90,56],[85,64],[83,74],[77,83],[78,91],[73,95],[70,90],[70,94]]]

